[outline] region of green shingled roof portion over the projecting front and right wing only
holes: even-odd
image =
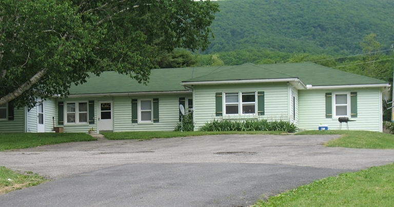
[[[299,78],[305,85],[336,86],[336,85],[364,85],[386,84],[387,82],[362,75],[343,72],[313,63],[288,63],[241,66],[224,66],[221,70],[213,71],[200,77],[191,78],[183,82],[219,81],[219,80],[250,80]]]

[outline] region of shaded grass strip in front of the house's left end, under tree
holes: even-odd
[[[97,140],[86,133],[0,133],[0,151]]]

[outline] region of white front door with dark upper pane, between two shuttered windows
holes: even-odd
[[[113,131],[112,101],[99,101],[99,133],[100,131]]]

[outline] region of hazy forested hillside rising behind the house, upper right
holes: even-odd
[[[394,44],[392,0],[226,0],[218,1],[204,54],[258,51],[348,55],[376,33],[388,49]],[[221,55],[223,57],[223,55]],[[225,61],[226,62],[226,61]]]

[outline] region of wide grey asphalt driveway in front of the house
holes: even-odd
[[[394,150],[326,148],[339,135],[215,135],[74,142],[0,153],[54,179],[4,206],[249,206],[313,180],[394,162]]]

